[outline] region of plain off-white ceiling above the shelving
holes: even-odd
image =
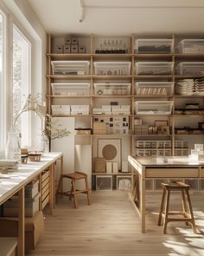
[[[84,17],[80,1],[84,6]],[[203,33],[203,0],[28,0],[50,34]],[[80,19],[83,19],[80,22]]]

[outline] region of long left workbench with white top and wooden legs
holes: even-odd
[[[55,162],[63,161],[62,153],[42,154],[41,161],[29,161],[22,164],[16,172],[0,175],[0,205],[18,192],[19,194],[19,215],[18,215],[18,255],[24,256],[24,187],[35,179],[40,179],[41,173],[49,169],[50,175],[50,198],[49,205],[53,213],[55,202]],[[62,165],[61,165],[62,173]],[[1,178],[3,177],[3,179]]]

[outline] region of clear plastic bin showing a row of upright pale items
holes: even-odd
[[[137,95],[173,95],[174,82],[136,82]]]

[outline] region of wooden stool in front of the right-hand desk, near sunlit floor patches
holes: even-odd
[[[170,221],[185,221],[186,225],[188,225],[188,222],[190,222],[194,230],[194,233],[197,233],[196,227],[194,225],[194,213],[192,210],[192,205],[191,205],[190,196],[189,196],[189,185],[182,182],[173,181],[172,183],[169,183],[169,184],[162,183],[162,186],[163,186],[163,198],[162,198],[162,203],[161,203],[161,208],[159,213],[158,226],[161,226],[162,219],[164,219],[163,233],[166,233],[167,224]],[[183,210],[182,212],[169,211],[169,200],[170,200],[171,191],[181,191],[182,210]],[[166,194],[167,194],[167,199],[165,202],[165,209],[164,209],[164,201],[165,201]],[[182,215],[182,217],[170,218],[169,215],[178,215],[178,216]]]

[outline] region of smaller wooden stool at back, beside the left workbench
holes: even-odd
[[[70,191],[66,191],[66,192],[62,191],[62,182],[63,182],[64,178],[71,179],[72,188]],[[85,187],[86,187],[85,189],[83,189],[83,190],[76,189],[75,181],[78,181],[78,180],[85,180]],[[60,178],[59,185],[58,185],[58,193],[61,194],[61,196],[62,195],[69,196],[69,200],[71,200],[73,198],[73,205],[75,208],[78,207],[76,194],[80,194],[80,193],[87,194],[88,205],[91,205],[89,187],[88,187],[88,181],[87,181],[87,174],[80,173],[80,172],[75,172],[73,174],[61,174],[61,178]]]

